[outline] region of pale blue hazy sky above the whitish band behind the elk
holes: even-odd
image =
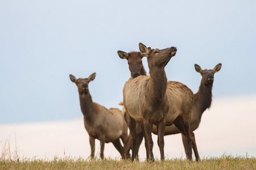
[[[213,69],[222,63],[213,99],[256,94],[255,6],[231,0],[0,1],[0,124],[81,118],[69,74],[96,72],[89,84],[93,100],[119,107],[130,71],[117,51],[138,51],[139,42],[176,46],[167,78],[194,92],[201,80],[194,64]]]

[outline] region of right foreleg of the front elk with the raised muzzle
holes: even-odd
[[[158,122],[158,147],[160,149],[161,160],[164,160],[164,128],[166,128],[166,120]]]

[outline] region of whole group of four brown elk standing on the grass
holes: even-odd
[[[193,131],[199,127],[203,112],[212,103],[214,73],[221,69],[221,63],[212,70],[202,70],[195,64],[202,79],[199,91],[193,94],[185,84],[167,80],[164,67],[175,56],[176,47],[151,49],[139,43],[139,50],[117,52],[121,59],[127,60],[131,72],[131,78],[123,87],[123,101],[119,103],[123,105],[122,111],[106,109],[93,102],[88,86],[96,73],[79,79],[69,75],[78,88],[84,126],[89,134],[90,156],[94,158],[95,139],[98,139],[101,159],[104,159],[105,143],[112,142],[123,159],[133,161],[138,159],[139,146],[144,138],[147,160],[153,162],[154,133],[158,135],[160,159],[164,160],[164,135],[181,133],[187,159],[192,160],[193,150],[196,161],[200,160]],[[150,75],[146,75],[143,57],[147,57]]]

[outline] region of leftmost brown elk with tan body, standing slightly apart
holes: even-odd
[[[127,124],[122,112],[117,108],[106,109],[104,106],[94,103],[90,96],[88,84],[94,80],[96,73],[88,78],[76,79],[75,76],[69,75],[71,81],[76,84],[79,91],[81,112],[84,115],[84,126],[89,134],[91,155],[94,158],[95,139],[100,140],[101,159],[104,158],[105,143],[112,142],[114,147],[124,158],[123,147],[120,142],[127,141]]]

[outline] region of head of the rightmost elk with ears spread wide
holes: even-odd
[[[201,67],[197,64],[195,64],[195,69],[198,73],[201,74],[201,76],[203,77],[202,78],[202,82],[205,84],[205,85],[212,85],[213,84],[213,79],[214,79],[214,73],[220,71],[221,69],[221,63],[219,63],[218,65],[216,65],[214,67],[214,69],[212,70],[202,70]]]

